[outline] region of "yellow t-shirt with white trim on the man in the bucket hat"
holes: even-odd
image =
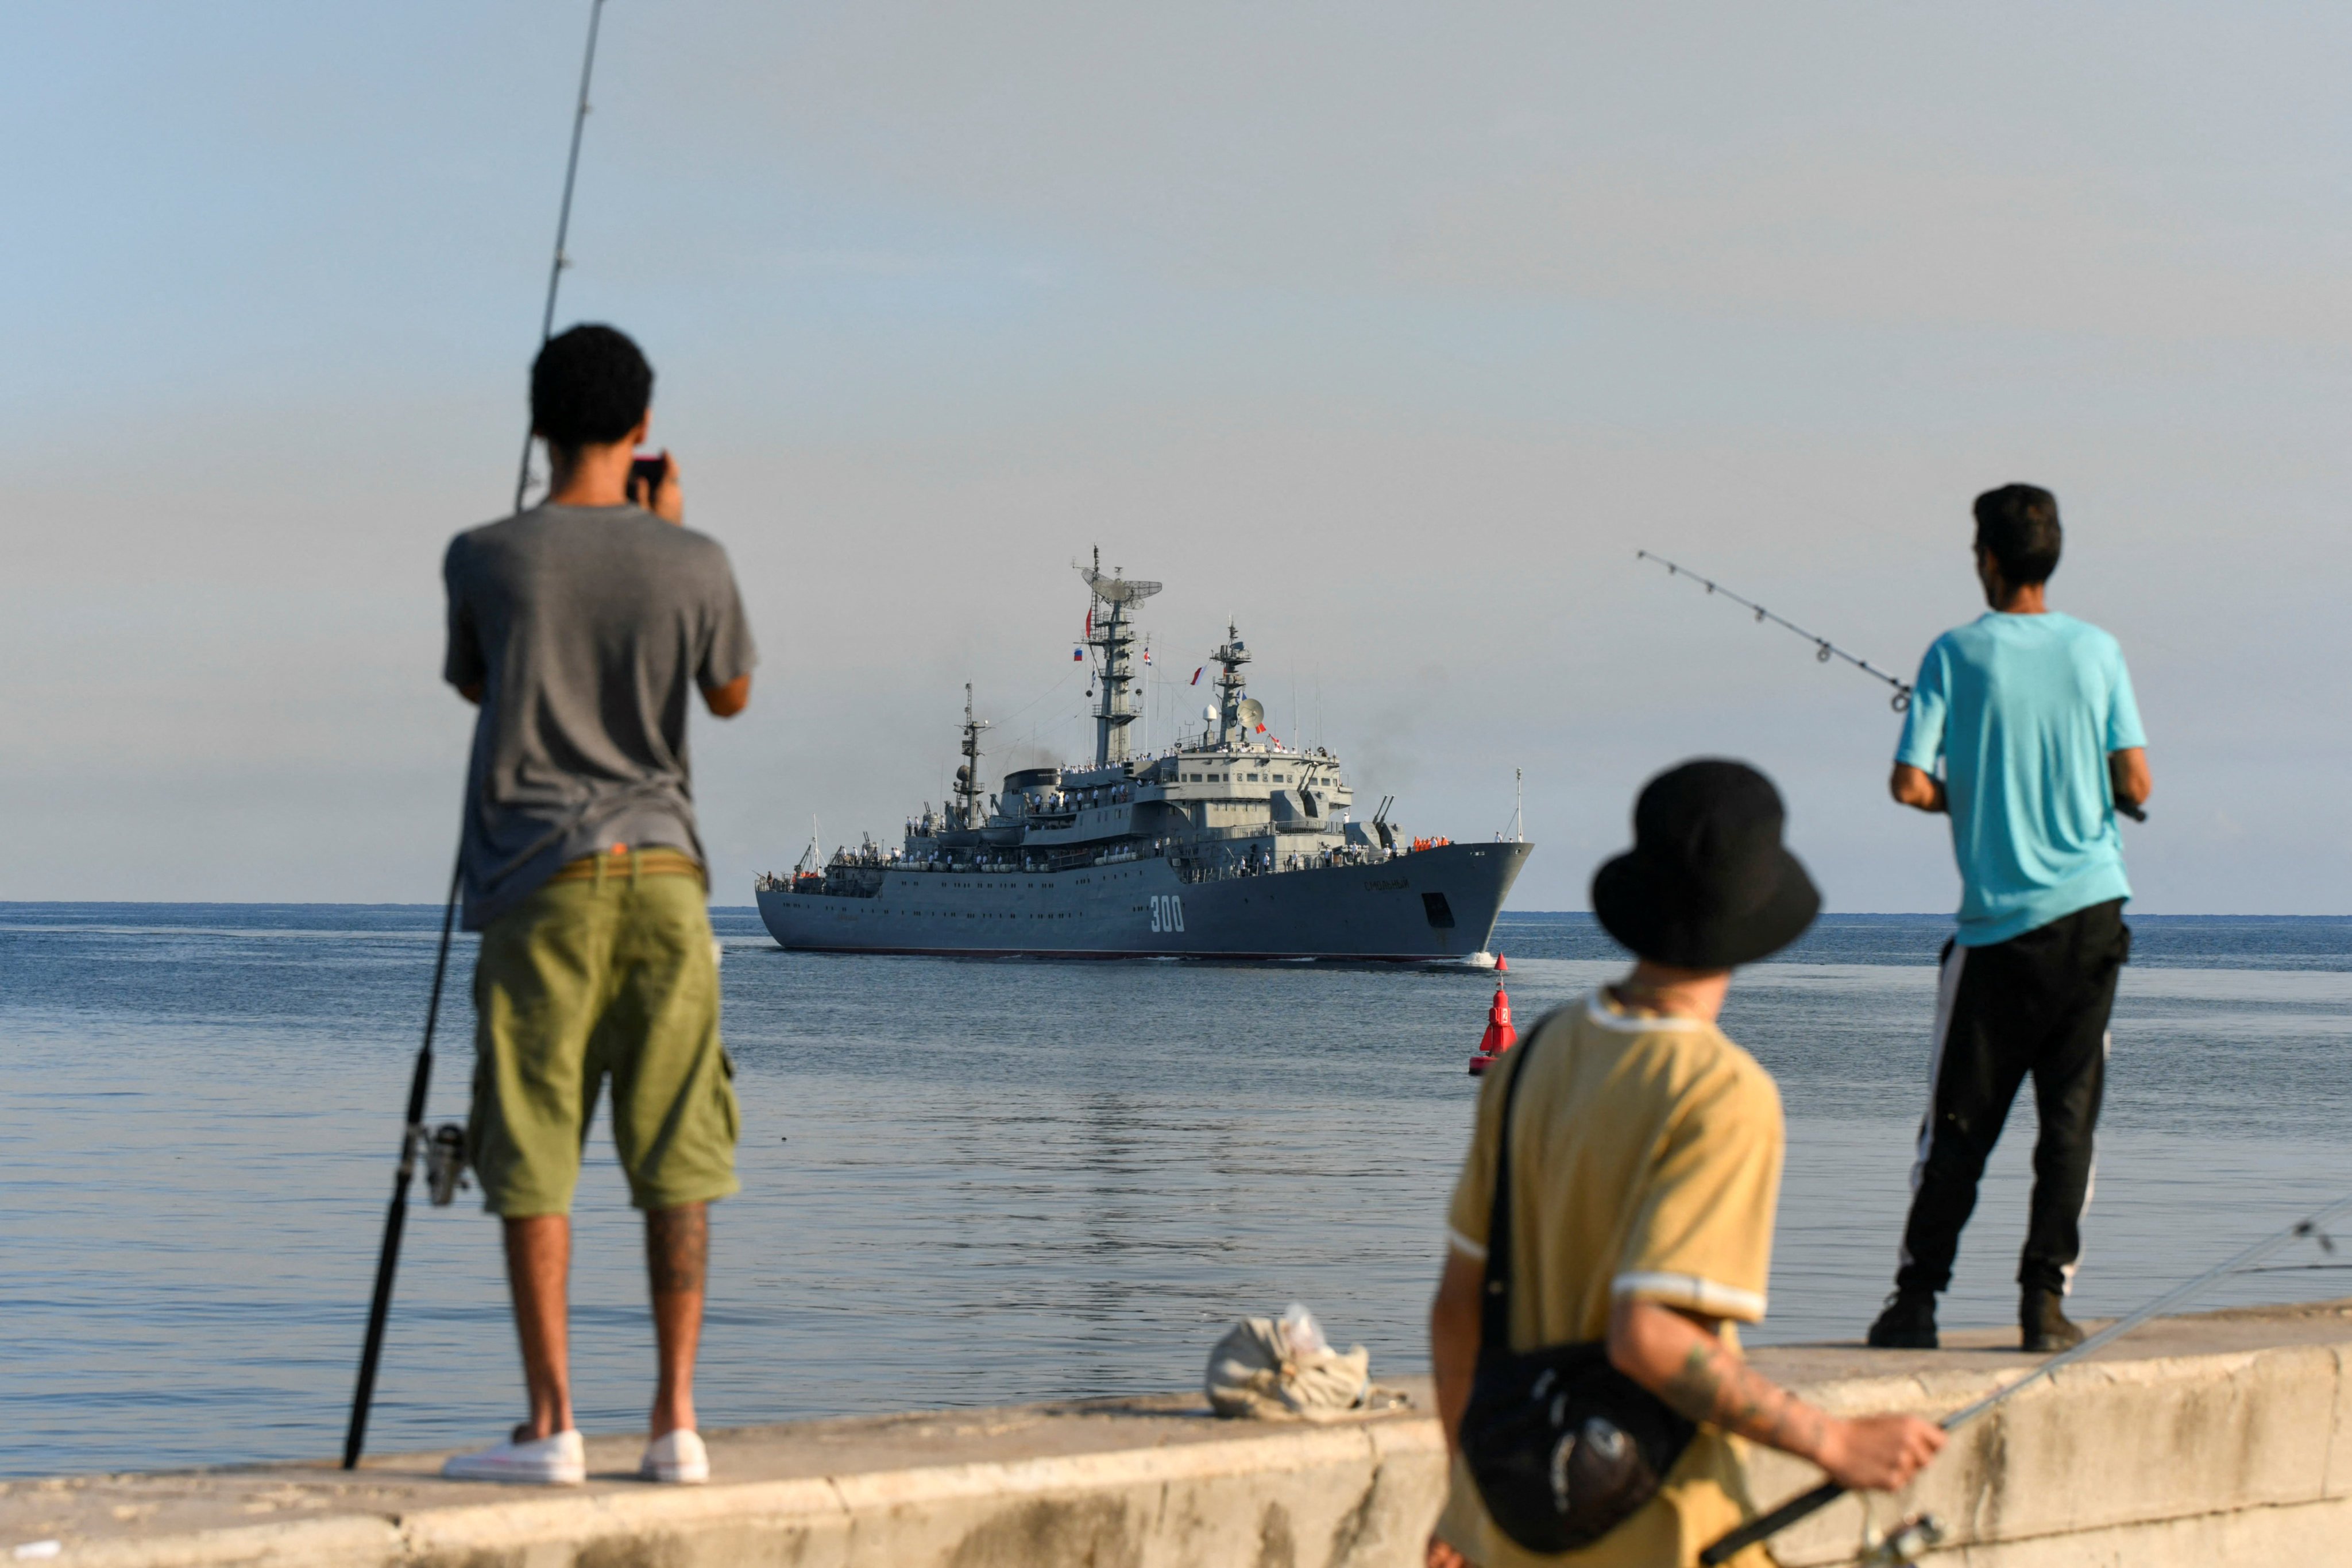
[[[1780,1199],[1780,1091],[1712,1023],[1628,1013],[1592,992],[1536,1025],[1486,1074],[1446,1213],[1451,1246],[1486,1258],[1496,1133],[1512,1072],[1510,1347],[1609,1338],[1618,1295],[1757,1324]],[[1738,1345],[1731,1324],[1724,1342]],[[1479,1568],[1679,1568],[1755,1516],[1738,1439],[1703,1425],[1658,1495],[1583,1552],[1538,1556],[1486,1519],[1456,1462],[1439,1535]],[[1755,1549],[1738,1563],[1769,1563]]]

